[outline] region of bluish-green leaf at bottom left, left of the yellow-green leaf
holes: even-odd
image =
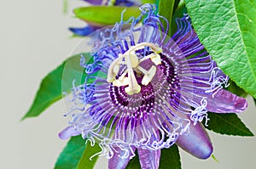
[[[55,163],[55,169],[75,169],[85,149],[84,139],[79,135],[70,138]]]

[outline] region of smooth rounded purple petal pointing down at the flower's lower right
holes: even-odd
[[[178,136],[176,144],[197,158],[207,159],[212,155],[211,140],[201,123],[195,126],[192,124],[189,126],[189,134]]]

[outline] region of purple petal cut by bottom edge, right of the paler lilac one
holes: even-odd
[[[160,163],[160,149],[149,150],[149,149],[137,149],[139,155],[140,164],[142,168],[157,169]]]

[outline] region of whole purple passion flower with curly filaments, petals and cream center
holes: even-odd
[[[81,134],[99,144],[98,155],[108,157],[109,168],[125,168],[136,149],[142,168],[158,168],[160,149],[172,144],[206,159],[212,154],[201,125],[207,111],[241,112],[247,101],[223,89],[228,77],[204,49],[188,15],[177,19],[170,38],[160,21],[167,20],[153,5],[140,9],[138,18],[100,31],[93,63],[81,59],[88,76],[73,85],[73,110],[67,113],[72,121],[60,137]]]

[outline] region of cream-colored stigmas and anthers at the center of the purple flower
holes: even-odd
[[[138,59],[136,51],[139,49],[143,49],[145,47],[149,47],[152,49],[153,53],[148,54],[146,57],[142,59]],[[134,75],[134,71],[138,74],[143,74],[142,84],[147,86],[149,82],[152,81],[155,72],[156,66],[160,65],[160,53],[162,52],[162,48],[158,47],[154,43],[150,42],[141,42],[135,46],[132,46],[125,52],[125,54],[119,54],[117,59],[114,59],[111,65],[108,68],[108,78],[107,82],[112,82],[115,87],[125,87],[125,93],[132,95],[134,93],[140,93],[141,86],[137,82],[137,78]],[[154,65],[151,66],[149,70],[145,70],[140,64],[147,59],[151,59]],[[116,78],[119,73],[120,65],[126,65],[126,69],[124,73]],[[127,76],[128,74],[128,76]]]

